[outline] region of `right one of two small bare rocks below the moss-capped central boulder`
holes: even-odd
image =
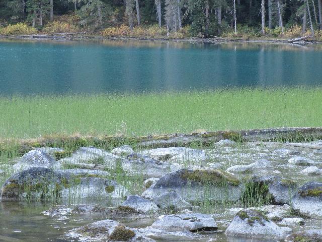
[[[186,202],[182,197],[180,197],[176,191],[170,191],[165,194],[154,197],[152,201],[160,209],[168,211],[180,211],[184,209],[191,210],[192,206],[190,203]]]

